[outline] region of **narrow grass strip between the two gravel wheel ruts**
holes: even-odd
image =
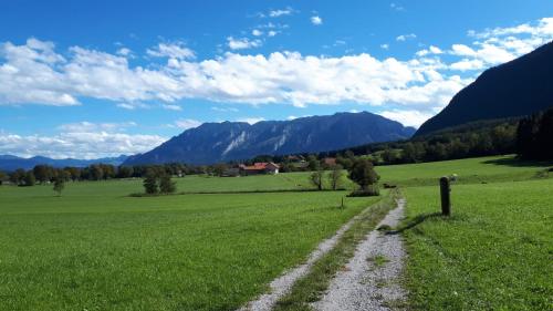
[[[290,293],[278,301],[274,310],[311,310],[309,304],[320,300],[332,278],[353,257],[357,243],[395,207],[397,194],[394,191],[384,196],[383,200],[361,214],[336,246],[313,265],[307,276],[295,282]]]

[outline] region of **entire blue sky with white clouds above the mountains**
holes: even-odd
[[[204,122],[418,127],[553,40],[551,0],[0,1],[0,154],[98,158]]]

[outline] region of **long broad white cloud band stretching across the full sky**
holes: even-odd
[[[451,71],[480,71],[553,39],[547,21],[530,25],[538,30],[495,29],[493,33],[509,34],[488,35],[448,50],[430,45],[406,61],[366,53],[316,56],[290,51],[267,55],[227,52],[201,61],[174,53],[166,64],[132,66],[123,55],[80,46],[62,54],[55,52],[53,43],[31,38],[21,45],[0,44],[0,104],[77,105],[79,99],[92,97],[127,110],[177,108],[176,101],[188,99],[295,106],[355,102],[437,107],[478,73],[461,79]],[[523,30],[526,32],[521,37],[513,34]],[[255,41],[238,42],[233,48],[248,48],[251,42]],[[440,59],[442,53],[448,54],[448,62]]]

